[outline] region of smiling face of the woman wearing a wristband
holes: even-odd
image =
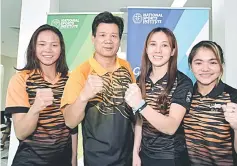
[[[155,67],[167,67],[170,57],[173,56],[170,41],[164,32],[152,34],[147,43],[146,52]]]

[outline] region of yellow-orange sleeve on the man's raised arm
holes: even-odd
[[[80,68],[77,68],[74,71],[72,71],[72,73],[70,73],[61,99],[62,111],[64,110],[63,108],[66,105],[75,102],[85,84],[85,81],[86,78],[83,75]]]

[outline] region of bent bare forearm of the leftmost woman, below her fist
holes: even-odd
[[[26,114],[13,114],[13,125],[16,137],[19,140],[24,140],[31,135],[36,129],[38,119],[39,113],[35,113],[33,107],[31,107]]]

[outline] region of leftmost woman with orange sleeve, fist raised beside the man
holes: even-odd
[[[9,82],[5,110],[20,143],[12,165],[76,166],[77,129],[65,125],[60,111],[68,79],[61,32],[40,26],[28,45],[27,63],[18,71]]]

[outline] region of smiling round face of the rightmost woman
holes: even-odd
[[[201,47],[197,50],[191,63],[191,69],[199,84],[215,86],[222,75],[221,64],[214,52]]]

